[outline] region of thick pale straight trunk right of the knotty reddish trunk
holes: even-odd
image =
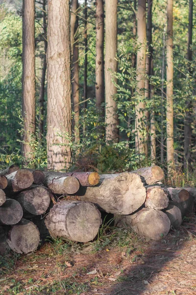
[[[118,0],[105,2],[105,138],[113,143],[119,142],[117,88],[112,82],[111,72],[117,72],[117,5]],[[117,79],[114,78],[117,83]]]

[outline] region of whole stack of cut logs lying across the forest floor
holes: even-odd
[[[100,211],[114,214],[117,227],[161,239],[180,226],[196,199],[196,189],[164,187],[163,178],[158,166],[99,176],[12,165],[0,171],[0,254],[36,250],[43,229],[54,238],[91,241]]]

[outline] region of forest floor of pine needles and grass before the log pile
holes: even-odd
[[[102,227],[85,245],[48,242],[1,259],[2,295],[196,295],[196,215],[161,241]]]

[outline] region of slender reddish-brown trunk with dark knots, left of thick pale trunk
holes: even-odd
[[[104,118],[104,12],[103,0],[97,0],[96,4],[96,106],[100,112],[100,120]]]

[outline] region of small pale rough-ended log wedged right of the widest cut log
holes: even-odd
[[[147,187],[147,199],[145,207],[149,209],[161,210],[167,208],[169,199],[163,188],[160,186]]]

